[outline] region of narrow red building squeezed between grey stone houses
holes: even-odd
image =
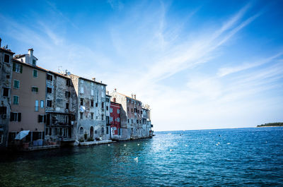
[[[111,126],[111,138],[112,139],[119,139],[121,135],[120,109],[121,109],[121,104],[117,102],[110,102],[110,120],[109,121],[110,121],[110,126]]]

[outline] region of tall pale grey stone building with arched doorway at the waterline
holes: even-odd
[[[69,76],[78,96],[77,140],[108,140],[106,130],[106,85],[71,74]]]

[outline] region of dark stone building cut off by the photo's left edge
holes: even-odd
[[[8,121],[11,111],[11,78],[13,52],[1,47],[0,38],[0,149],[7,147]]]

